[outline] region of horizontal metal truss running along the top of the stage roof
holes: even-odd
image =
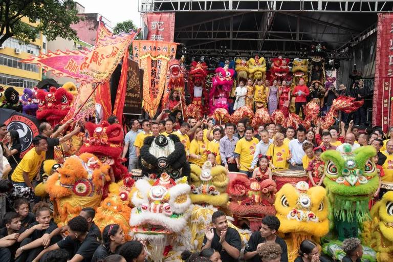
[[[393,1],[364,0],[139,0],[139,12],[289,11],[391,12]]]

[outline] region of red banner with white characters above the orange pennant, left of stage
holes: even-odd
[[[173,42],[174,13],[145,13],[142,15],[147,26],[147,40]]]

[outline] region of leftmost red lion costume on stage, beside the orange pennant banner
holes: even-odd
[[[183,116],[185,117],[185,110],[186,110],[186,101],[184,96],[184,78],[187,74],[187,71],[182,68],[179,60],[170,60],[168,64],[168,89],[169,91],[174,89],[179,92],[179,96],[182,102],[181,111]],[[165,99],[164,102],[167,99]]]

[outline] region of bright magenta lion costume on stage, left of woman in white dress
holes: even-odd
[[[228,111],[229,92],[233,85],[233,75],[235,71],[228,68],[217,68],[211,84],[209,95],[210,114],[214,113],[215,108],[225,108]]]

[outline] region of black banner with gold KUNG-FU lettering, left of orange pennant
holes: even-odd
[[[142,82],[143,82],[142,80],[143,80],[143,70],[139,69],[137,62],[128,59],[127,90],[125,92],[123,114],[141,115]]]

